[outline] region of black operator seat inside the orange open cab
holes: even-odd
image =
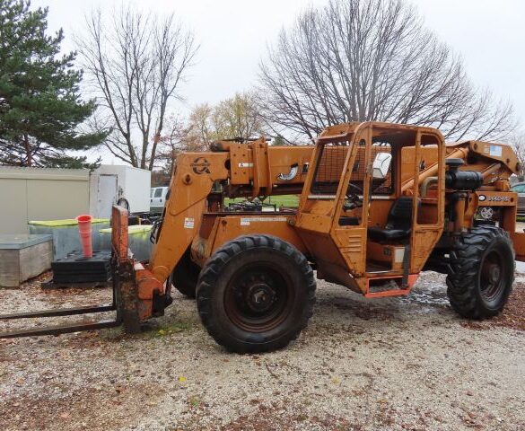
[[[404,240],[412,229],[412,200],[411,196],[402,196],[396,199],[390,207],[385,227],[373,226],[368,228],[368,237],[377,242]],[[417,200],[417,207],[420,205]]]

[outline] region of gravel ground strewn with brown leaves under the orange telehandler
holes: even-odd
[[[0,312],[109,295],[42,291],[33,280],[0,290]],[[525,275],[503,315],[484,322],[459,319],[432,272],[406,298],[365,300],[318,281],[296,342],[240,356],[175,295],[138,336],[0,340],[0,429],[525,429],[524,303]]]

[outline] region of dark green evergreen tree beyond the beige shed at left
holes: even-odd
[[[47,15],[29,2],[0,0],[0,164],[83,167],[85,157],[66,150],[87,150],[106,137],[78,129],[95,104],[81,100],[75,53],[58,56],[64,34],[47,34]]]

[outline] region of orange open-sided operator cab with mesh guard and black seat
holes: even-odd
[[[441,133],[378,122],[338,125],[319,136],[311,165],[296,226],[318,277],[365,294],[369,278],[406,284],[442,233]]]

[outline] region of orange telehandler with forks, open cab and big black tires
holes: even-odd
[[[110,307],[117,319],[3,336],[118,324],[136,332],[163,314],[175,286],[197,297],[206,330],[224,347],[273,350],[310,319],[314,270],[378,298],[408,295],[420,272],[432,269],[448,275],[456,312],[490,318],[511,293],[514,260],[525,259],[509,187],[519,169],[508,145],[445,145],[435,128],[380,122],[326,128],[315,146],[271,146],[260,138],[180,154],[149,262],[133,259],[127,210],[113,207]],[[284,194],[301,194],[299,207],[224,205],[224,198]]]

